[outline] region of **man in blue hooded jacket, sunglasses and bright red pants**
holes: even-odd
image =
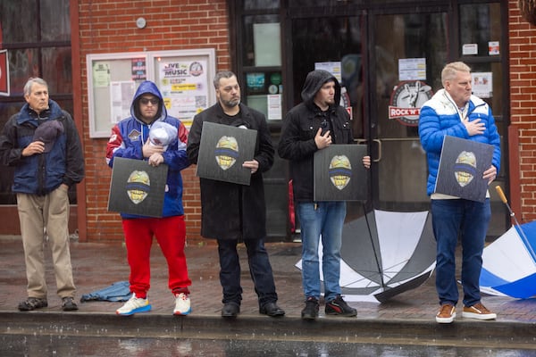
[[[156,132],[160,134],[155,135]],[[167,114],[163,97],[151,81],[142,82],[132,104],[130,117],[112,129],[106,147],[106,162],[122,157],[147,161],[147,165],[168,165],[163,198],[162,218],[135,216],[121,212],[122,226],[130,265],[130,300],[116,311],[132,315],[151,310],[147,299],[150,287],[150,253],[153,236],[158,241],[168,264],[168,286],[175,299],[174,315],[191,311],[188,286],[188,267],[184,254],[186,223],[182,207],[182,177],[180,171],[189,166],[186,154],[188,129]]]

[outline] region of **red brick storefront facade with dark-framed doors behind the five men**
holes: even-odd
[[[123,239],[119,214],[107,211],[112,173],[105,163],[107,140],[90,135],[87,55],[197,49],[214,49],[216,71],[237,72],[242,96],[248,105],[258,104],[259,96],[268,94],[267,91],[262,95],[247,93],[248,74],[265,73],[266,79],[281,79],[285,89],[282,90],[282,85],[279,89],[283,115],[299,102],[306,72],[315,64],[341,62],[346,57],[355,61],[350,64],[361,66],[364,70],[358,69],[355,73],[368,79],[358,79],[352,94],[355,95],[351,99],[354,101],[351,103],[354,137],[356,141],[367,142],[373,159],[378,159],[371,170],[373,185],[367,210],[422,210],[429,203],[423,193],[425,162],[420,156],[422,153],[415,151],[419,146],[418,135],[411,128],[383,119],[387,117],[391,89],[397,83],[393,77],[397,75],[398,59],[425,58],[428,84],[434,89],[440,87],[438,73],[448,61],[461,59],[477,71],[493,72],[490,102],[500,125],[504,163],[497,185],[504,188],[520,222],[536,220],[536,120],[533,119],[536,115],[536,27],[521,16],[518,0],[58,0],[58,8],[60,3],[64,12],[70,12],[69,16],[63,16],[70,29],[58,25],[56,30],[70,33],[70,41],[68,38],[60,42],[48,40],[45,46],[63,46],[67,54],[71,46],[71,83],[54,79],[57,83],[51,88],[51,97],[70,103],[72,108],[68,109],[72,111],[84,145],[86,179],[77,187],[77,204],[71,210],[75,212],[71,214],[74,222],[70,222],[70,227],[78,228],[81,241]],[[36,4],[40,2],[37,0]],[[12,21],[20,12],[19,5],[4,3],[3,6],[0,10],[8,9],[12,13],[0,18],[3,21],[0,29],[4,28],[4,48],[11,52],[13,62],[15,57],[24,59],[27,53],[35,55],[33,47],[41,46],[39,36],[36,39],[28,34],[14,38],[18,32],[29,32],[26,28],[19,31],[19,20]],[[51,10],[45,9],[46,6],[52,5],[43,4],[40,11],[48,15]],[[32,9],[28,16],[36,16],[35,11]],[[145,27],[138,28],[136,21],[140,17],[147,21]],[[12,23],[6,25],[6,21]],[[255,61],[255,51],[261,51],[264,45],[273,45],[274,39],[263,38],[269,41],[255,43],[257,23],[280,26],[281,36],[274,42],[281,47],[280,63],[262,65]],[[46,32],[46,29],[40,30]],[[478,55],[462,53],[463,45],[479,41]],[[500,55],[488,54],[488,41],[500,42]],[[21,49],[24,46],[21,44],[29,42],[32,42],[29,50]],[[381,51],[374,53],[378,48]],[[65,51],[62,59],[68,61]],[[51,76],[50,71],[39,68],[39,64],[30,64],[20,71],[17,83],[12,83],[15,92],[21,92],[28,76],[39,75],[46,79]],[[58,83],[65,84],[61,90]],[[363,88],[368,93],[364,93]],[[3,104],[7,105],[3,107]],[[21,93],[0,97],[0,113],[5,113],[0,120],[6,120],[21,104]],[[274,144],[277,144],[281,120],[268,121]],[[376,143],[381,140],[380,147]],[[389,154],[392,156],[386,157]],[[400,166],[398,171],[391,171],[397,165]],[[287,227],[286,163],[276,158],[274,167],[272,173],[264,176],[267,204],[271,205],[268,207],[269,228],[277,230],[272,232],[272,237],[292,239]],[[183,171],[183,180],[187,237],[191,243],[200,239],[201,223],[194,167]],[[4,225],[4,230],[0,228],[0,234],[17,234],[16,205],[13,195],[7,192],[5,181],[4,178],[0,182],[0,195],[4,190],[7,196],[0,202],[0,213],[8,217],[8,224]],[[494,191],[490,189],[492,225],[497,221],[500,224],[495,224],[491,236],[497,237],[504,232],[509,219]],[[355,205],[348,215],[355,217],[364,209],[365,205]]]

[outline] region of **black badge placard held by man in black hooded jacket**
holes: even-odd
[[[330,145],[314,153],[314,201],[366,201],[366,145]]]

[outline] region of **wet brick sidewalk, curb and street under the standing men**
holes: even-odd
[[[16,237],[0,239],[0,355],[38,355],[31,353],[32,344],[38,345],[42,352],[39,355],[58,356],[106,355],[102,349],[110,354],[147,357],[536,355],[536,299],[483,295],[482,303],[498,313],[496,321],[466,320],[459,314],[453,324],[440,325],[434,319],[438,303],[433,275],[423,286],[386,303],[350,303],[358,311],[356,318],[325,317],[321,307],[318,320],[303,321],[301,274],[294,266],[300,259],[301,245],[270,243],[266,248],[279,304],[287,312],[283,318],[258,313],[243,245],[239,245],[244,289],[241,313],[236,320],[221,318],[218,253],[214,242],[208,240],[189,245],[186,250],[192,280],[191,315],[172,316],[174,300],[167,287],[166,263],[154,245],[149,292],[153,310],[119,317],[114,311],[121,303],[86,302],[79,303],[80,311],[61,311],[47,247],[48,307],[18,311],[17,304],[26,297],[22,245]],[[81,295],[129,278],[126,250],[121,243],[72,241],[71,261],[77,301]],[[58,353],[60,350],[63,353]]]

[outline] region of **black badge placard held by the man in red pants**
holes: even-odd
[[[162,217],[167,172],[166,164],[114,158],[108,211]]]

